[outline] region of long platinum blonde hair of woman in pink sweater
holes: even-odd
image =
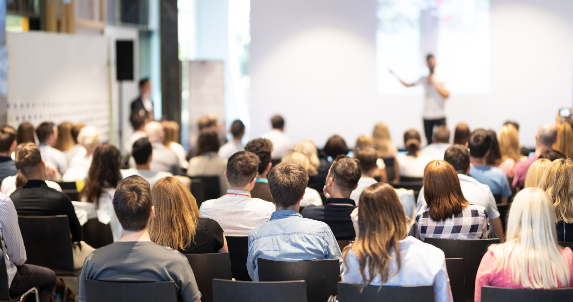
[[[551,199],[543,190],[527,188],[517,193],[509,211],[505,238],[503,244],[490,248],[496,272],[509,266],[513,283],[524,288],[569,285],[571,272],[557,244]]]

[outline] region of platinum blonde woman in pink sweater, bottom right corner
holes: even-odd
[[[513,199],[507,241],[490,245],[477,270],[474,301],[484,285],[504,288],[572,287],[573,253],[557,244],[551,199],[527,188]]]

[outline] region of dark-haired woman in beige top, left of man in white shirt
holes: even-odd
[[[219,177],[219,189],[221,190],[221,195],[225,195],[229,189],[229,183],[225,178],[227,160],[217,155],[219,146],[217,132],[209,128],[202,130],[201,134],[199,134],[199,139],[197,139],[197,156],[189,160],[187,175],[190,177]]]

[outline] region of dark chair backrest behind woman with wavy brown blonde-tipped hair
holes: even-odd
[[[368,285],[362,292],[358,284],[338,283],[339,302],[362,301],[434,301],[434,288],[431,285],[417,285],[405,287],[382,287]]]

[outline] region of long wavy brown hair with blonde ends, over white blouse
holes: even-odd
[[[362,291],[376,276],[380,276],[384,284],[388,277],[399,272],[402,267],[399,241],[406,238],[408,227],[398,194],[387,183],[375,183],[364,189],[359,203],[358,237],[354,244],[344,248],[342,256],[346,261],[348,252],[352,250],[358,258]],[[390,272],[394,257],[397,269]]]

